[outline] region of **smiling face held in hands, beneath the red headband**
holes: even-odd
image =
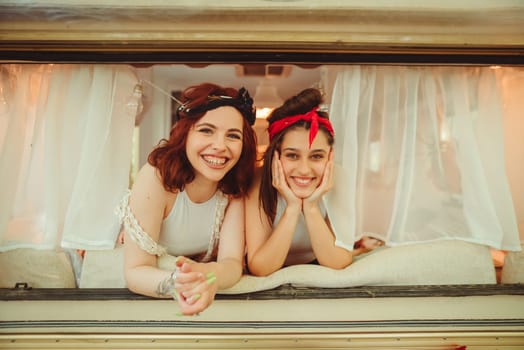
[[[331,146],[319,131],[309,147],[309,130],[295,128],[286,132],[280,147],[280,162],[286,181],[299,198],[307,198],[320,185]]]

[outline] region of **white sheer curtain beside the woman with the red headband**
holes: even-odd
[[[505,171],[503,106],[490,67],[352,66],[337,75],[337,244],[461,239],[520,250]]]

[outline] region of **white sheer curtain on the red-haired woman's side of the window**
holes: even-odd
[[[133,68],[0,69],[0,251],[113,248],[137,112]]]

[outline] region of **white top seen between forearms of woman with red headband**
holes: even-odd
[[[284,214],[284,209],[286,208],[286,201],[278,196],[277,200],[277,211],[275,215],[275,220],[273,226],[275,226]],[[322,201],[320,202],[320,212],[322,216],[326,217],[326,208],[324,207]],[[315,254],[313,253],[313,248],[311,247],[311,241],[309,239],[309,233],[307,232],[306,222],[304,220],[304,215],[300,214],[293,234],[293,239],[291,241],[291,247],[289,248],[289,253],[287,255],[284,265],[297,265],[297,264],[307,264],[315,260]]]

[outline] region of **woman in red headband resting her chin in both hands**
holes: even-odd
[[[322,196],[333,186],[335,133],[322,95],[306,89],[268,118],[269,146],[246,199],[249,272],[316,262],[340,269],[354,252],[335,245]]]

